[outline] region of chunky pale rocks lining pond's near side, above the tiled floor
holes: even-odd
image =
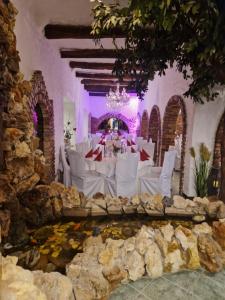
[[[200,266],[220,271],[225,266],[225,252],[215,238],[222,238],[224,224],[215,223],[214,231],[207,223],[192,230],[181,225],[158,229],[144,225],[125,241],[106,239],[103,243],[100,236],[88,238],[84,253],[67,265],[76,299],[106,298],[119,282],[135,281],[145,274],[157,278],[164,272]]]

